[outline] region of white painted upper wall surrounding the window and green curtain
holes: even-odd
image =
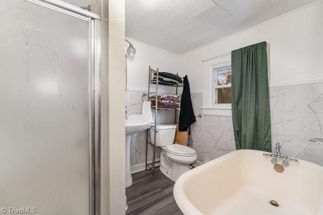
[[[268,43],[271,86],[323,81],[323,2],[273,19],[180,56],[193,92],[202,91],[202,60],[247,45]]]

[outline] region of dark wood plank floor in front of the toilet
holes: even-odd
[[[174,196],[174,182],[164,176],[159,168],[132,175],[133,185],[126,188],[128,210],[126,214],[183,214]]]

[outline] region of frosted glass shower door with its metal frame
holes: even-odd
[[[0,207],[9,212],[98,212],[99,20],[57,0],[1,1]]]

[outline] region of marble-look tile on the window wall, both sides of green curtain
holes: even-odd
[[[191,95],[194,113],[201,113],[202,93]],[[323,166],[323,83],[270,88],[272,146],[279,141],[288,156]],[[208,162],[235,150],[232,117],[204,115],[191,126],[189,144],[198,160]]]

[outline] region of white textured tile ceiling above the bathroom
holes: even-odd
[[[184,53],[317,0],[126,0],[126,37]]]

